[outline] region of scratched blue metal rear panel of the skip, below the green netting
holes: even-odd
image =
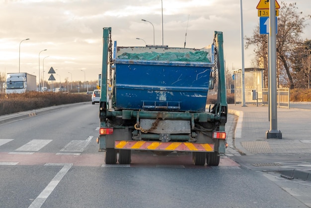
[[[205,111],[208,65],[123,61],[115,66],[116,108]]]

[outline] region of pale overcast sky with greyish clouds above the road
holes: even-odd
[[[259,1],[242,2],[244,36],[250,37],[258,25]],[[241,68],[240,0],[162,2],[164,45],[184,47],[187,31],[186,47],[203,48],[212,43],[215,30],[222,31],[227,67]],[[311,14],[310,0],[284,2],[296,2],[298,11]],[[162,44],[161,0],[0,0],[0,14],[0,72],[18,72],[20,46],[20,72],[37,79],[39,53],[47,49],[40,53],[41,78],[47,80],[53,67],[57,82],[71,81],[71,74],[73,81],[84,81],[84,72],[86,81],[97,80],[103,27],[112,28],[118,46],[144,46],[143,40],[153,44],[154,38],[152,24],[141,20],[146,19],[155,27],[155,44]],[[311,39],[310,20],[307,23],[303,38]],[[245,68],[252,67],[253,49],[244,56]]]

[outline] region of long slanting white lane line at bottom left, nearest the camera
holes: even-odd
[[[66,175],[73,164],[46,164],[46,165],[64,165],[64,167],[56,174],[56,176],[50,181],[50,183],[45,187],[45,189],[39,194],[39,196],[31,203],[29,208],[40,208],[50,194],[54,191],[56,186],[60,183],[62,178]]]

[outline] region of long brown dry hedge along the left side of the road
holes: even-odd
[[[61,104],[73,104],[91,101],[90,95],[28,92],[22,94],[1,94],[0,115],[38,109]]]

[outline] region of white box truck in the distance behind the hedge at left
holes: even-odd
[[[36,76],[28,73],[8,73],[5,82],[5,93],[25,93],[36,91]]]

